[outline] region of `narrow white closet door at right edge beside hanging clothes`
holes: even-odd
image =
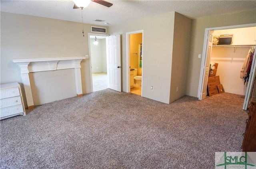
[[[253,85],[254,85],[255,69],[256,69],[255,55],[256,55],[256,53],[254,52],[253,59],[252,59],[252,67],[251,67],[251,71],[250,71],[250,75],[249,75],[249,79],[248,79],[248,85],[247,85],[246,93],[245,93],[245,97],[244,97],[243,110],[247,110],[249,101],[250,101],[251,96],[252,96],[252,88],[253,88]]]

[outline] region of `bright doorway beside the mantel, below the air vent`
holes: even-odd
[[[108,88],[106,36],[88,33],[92,92]]]

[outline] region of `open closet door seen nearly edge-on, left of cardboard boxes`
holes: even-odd
[[[208,41],[207,41],[207,48],[206,48],[206,57],[204,62],[204,76],[202,79],[202,88],[199,100],[203,100],[206,98],[207,95],[207,84],[208,84],[208,77],[209,77],[209,70],[210,70],[210,60],[211,60],[211,53],[212,53],[212,42],[213,42],[213,31],[208,31]]]

